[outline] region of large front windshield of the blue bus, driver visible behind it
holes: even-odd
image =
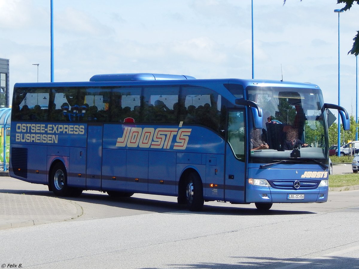
[[[327,164],[326,110],[320,90],[248,87],[263,112],[263,128],[249,126],[250,162],[306,158]]]

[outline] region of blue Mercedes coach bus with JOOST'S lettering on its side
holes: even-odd
[[[317,85],[107,74],[17,83],[10,176],[59,196],[99,190],[206,201],[326,202],[328,108]]]

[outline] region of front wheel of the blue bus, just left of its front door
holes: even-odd
[[[190,211],[201,211],[204,204],[202,181],[195,173],[190,173],[186,185],[187,206]]]

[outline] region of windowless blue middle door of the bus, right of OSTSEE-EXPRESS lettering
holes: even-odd
[[[101,190],[102,136],[102,125],[88,124],[86,188],[91,190]]]

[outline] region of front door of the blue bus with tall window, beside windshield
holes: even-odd
[[[244,109],[229,111],[225,161],[225,200],[244,202],[246,128]]]

